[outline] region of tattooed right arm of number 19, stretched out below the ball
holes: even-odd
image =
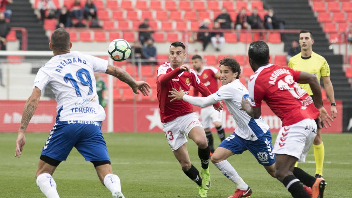
[[[108,65],[106,72],[109,75],[115,76],[122,82],[127,83],[133,90],[135,94],[139,94],[138,90],[142,92],[143,95],[149,95],[150,85],[144,81],[136,81],[132,78],[130,74],[128,74],[125,70]]]

